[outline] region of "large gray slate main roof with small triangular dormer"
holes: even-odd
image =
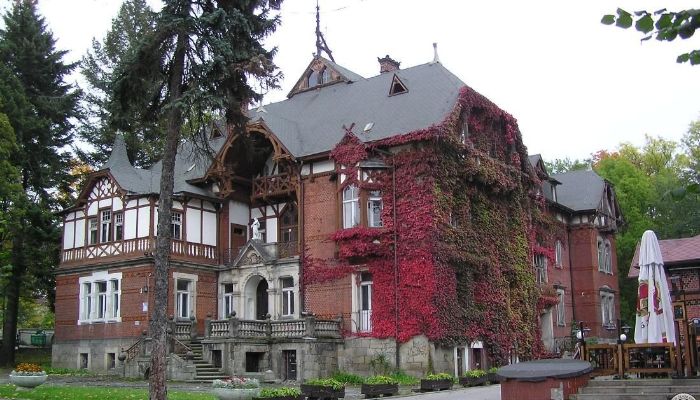
[[[389,96],[394,74],[408,92]],[[353,132],[369,142],[439,124],[465,86],[440,63],[356,78],[250,110],[251,120],[264,121],[293,156],[303,157],[333,149],[345,135],[343,125],[355,123]],[[372,130],[362,133],[369,122]]]

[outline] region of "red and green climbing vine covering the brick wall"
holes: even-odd
[[[399,145],[406,146],[393,155],[375,151]],[[375,337],[479,340],[496,362],[516,351],[542,353],[538,317],[553,297],[536,284],[532,260],[553,258],[547,244],[561,232],[544,212],[541,177],[527,162],[515,118],[464,87],[442,123],[370,143],[348,131],[331,158],[341,190],[381,190],[383,227],[335,232],[337,258],[309,262],[308,283],[370,272]],[[368,158],[390,168],[368,178],[359,170]]]

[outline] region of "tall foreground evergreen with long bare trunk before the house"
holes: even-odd
[[[212,112],[243,129],[242,112],[248,101],[259,99],[249,79],[276,85],[274,50],[262,40],[275,31],[281,0],[167,0],[158,13],[155,29],[144,35],[138,50],[120,70],[114,83],[113,120],[128,129],[127,117],[138,107],[149,122],[164,119],[165,147],[158,201],[158,237],[154,255],[155,304],[150,336],[150,398],[166,399],[166,308],[168,257],[175,156],[184,126],[203,127]],[[143,107],[142,99],[148,101]],[[118,107],[117,107],[118,106]],[[207,147],[205,136],[193,138]]]

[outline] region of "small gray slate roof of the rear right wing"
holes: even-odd
[[[605,181],[594,171],[570,171],[552,176],[561,182],[557,187],[559,203],[574,211],[596,210],[605,190]]]

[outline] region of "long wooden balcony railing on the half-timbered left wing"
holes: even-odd
[[[155,239],[137,238],[115,242],[100,243],[91,246],[66,249],[61,252],[61,265],[71,266],[78,263],[97,261],[118,261],[138,257],[150,257],[155,251]],[[219,253],[216,246],[201,243],[173,240],[170,255],[173,258],[204,264],[218,264]]]

